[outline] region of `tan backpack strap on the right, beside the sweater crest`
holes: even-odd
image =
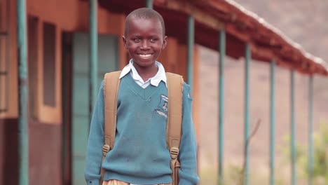
[[[179,155],[179,146],[182,135],[182,96],[184,79],[178,74],[166,73],[168,79],[168,130],[167,142],[171,154],[171,170],[173,184],[177,184],[175,166]]]

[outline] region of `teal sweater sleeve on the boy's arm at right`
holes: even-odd
[[[191,111],[190,86],[184,83],[182,139],[178,159],[181,163],[179,170],[179,185],[198,184],[197,174],[197,143]]]

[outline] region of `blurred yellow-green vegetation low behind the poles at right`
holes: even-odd
[[[290,181],[290,139],[285,137],[285,144],[282,147],[284,160],[275,165],[275,184],[289,184]],[[328,184],[328,122],[320,123],[320,128],[313,133],[313,185]],[[308,181],[308,146],[296,146],[296,172],[297,181],[301,184]],[[257,167],[250,168],[250,184],[268,183],[268,172]],[[208,168],[200,171],[200,184],[217,184],[217,168]],[[241,163],[229,164],[224,169],[224,184],[220,185],[242,185],[243,169]]]

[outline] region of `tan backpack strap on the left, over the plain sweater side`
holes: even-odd
[[[102,147],[102,160],[104,160],[109,150],[114,147],[120,74],[121,71],[114,71],[104,75],[104,146]],[[103,168],[101,170],[101,177],[102,179],[104,178]]]

